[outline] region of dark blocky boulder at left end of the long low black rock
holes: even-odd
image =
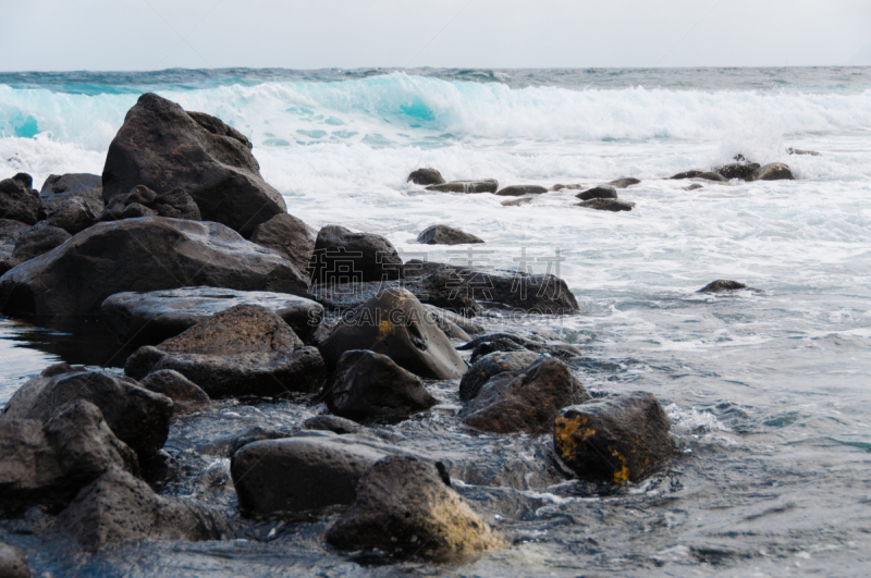
[[[312,284],[359,283],[401,279],[403,263],[381,235],[327,225],[318,232],[309,269]]]

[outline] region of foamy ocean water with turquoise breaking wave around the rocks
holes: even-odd
[[[246,134],[265,179],[315,227],[383,234],[406,259],[550,268],[582,313],[526,322],[584,347],[573,367],[588,389],[651,391],[673,418],[686,455],[662,476],[613,495],[514,490],[522,514],[502,516],[513,549],[402,571],[868,574],[871,69],[0,74],[0,177],[25,171],[39,187],[49,174],[100,173],[143,91]],[[737,153],[787,162],[797,180],[685,190],[688,181],[664,179]],[[493,195],[425,193],[405,182],[419,167],[502,186],[642,182],[619,192],[636,202],[631,212],[575,207],[567,189],[505,207]],[[471,255],[417,245],[436,223],[487,244]],[[758,291],[697,293],[715,279]],[[57,329],[0,317],[0,404],[58,359],[106,360],[88,353]],[[450,414],[455,393],[439,396]],[[437,453],[502,443],[437,417],[391,432]],[[488,515],[506,507],[481,497],[493,488],[462,488]],[[134,575],[396,569],[335,555],[318,529],[287,530],[275,544],[155,545],[122,566]],[[111,574],[115,563],[89,564]]]

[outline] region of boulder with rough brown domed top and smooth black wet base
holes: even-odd
[[[323,380],[323,360],[278,315],[256,305],[221,311],[157,347],[127,359],[135,379],[172,369],[209,397],[314,392]]]

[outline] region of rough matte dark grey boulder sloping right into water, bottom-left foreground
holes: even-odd
[[[85,487],[58,516],[57,525],[90,552],[146,539],[198,541],[232,536],[225,517],[216,509],[157,495],[147,483],[118,469]]]

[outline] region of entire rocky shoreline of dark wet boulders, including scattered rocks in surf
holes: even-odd
[[[98,320],[135,349],[123,376],[57,365],[9,401],[4,534],[62,536],[97,552],[327,520],[323,540],[351,559],[462,562],[511,548],[493,522],[499,488],[618,489],[679,458],[650,393],[593,397],[576,377],[582,351],[506,322],[576,315],[559,276],[404,262],[380,235],[316,232],[287,214],[250,150],[220,120],[147,94],[102,175],[52,175],[39,193],[24,173],[0,182],[0,310],[40,324]],[[673,179],[792,177],[785,164],[736,158]],[[516,197],[504,204],[548,193],[449,183],[432,169],[408,180]],[[616,190],[637,183],[553,189],[577,188],[580,207],[617,212],[634,204]],[[484,243],[447,225],[418,241]],[[741,288],[717,281],[703,291]],[[440,410],[445,390],[455,410]],[[216,426],[234,404],[277,403],[296,419],[265,409],[244,429]],[[380,428],[405,420],[522,435],[528,446],[498,464],[410,451]],[[189,475],[210,459],[211,478]],[[480,482],[490,495],[464,492]],[[14,546],[0,543],[0,574],[26,576]]]

